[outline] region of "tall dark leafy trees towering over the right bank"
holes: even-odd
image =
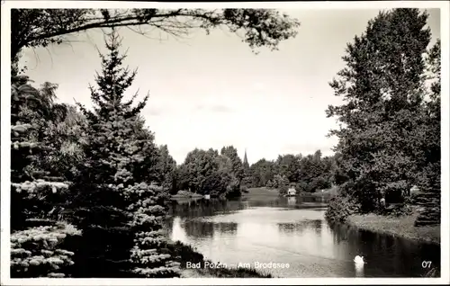
[[[382,199],[401,201],[417,185],[418,224],[439,222],[440,40],[430,47],[427,20],[419,9],[379,13],[347,44],[347,66],[330,83],[345,103],[327,111],[340,122],[330,135],[345,178],[329,219],[381,211]]]

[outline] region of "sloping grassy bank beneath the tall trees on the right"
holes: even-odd
[[[417,212],[399,218],[375,214],[352,215],[347,218],[347,223],[376,233],[440,245],[440,226],[414,227],[418,215]]]

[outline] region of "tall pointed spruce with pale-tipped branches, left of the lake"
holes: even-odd
[[[77,215],[85,235],[85,277],[174,277],[178,265],[161,253],[166,192],[152,184],[158,152],[153,134],[143,127],[139,112],[145,99],[132,107],[137,94],[124,101],[136,76],[121,67],[121,40],[108,35],[108,54],[101,54],[102,73],[90,86],[94,112],[89,121],[86,154],[77,184]],[[81,208],[82,207],[82,208]],[[89,244],[89,246],[87,246]],[[95,269],[92,265],[95,265]]]

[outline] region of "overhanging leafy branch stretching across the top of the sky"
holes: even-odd
[[[253,50],[277,49],[295,37],[300,22],[271,9],[12,9],[11,58],[23,48],[61,44],[69,34],[97,28],[128,27],[142,35],[154,30],[177,38],[193,29],[224,27],[243,31],[242,41]]]

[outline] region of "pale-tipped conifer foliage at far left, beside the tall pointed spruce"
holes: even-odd
[[[67,277],[73,252],[62,240],[78,232],[56,218],[69,187],[64,147],[76,143],[67,137],[52,140],[52,128],[67,124],[69,108],[53,103],[55,85],[38,89],[28,77],[13,76],[11,87],[11,275]],[[69,134],[65,128],[59,133]]]

